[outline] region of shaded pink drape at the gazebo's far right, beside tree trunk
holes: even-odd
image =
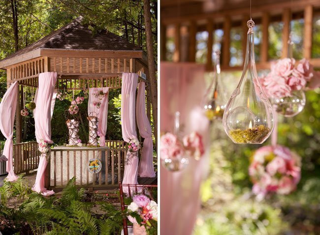
[[[139,162],[138,175],[140,177],[156,177],[153,166],[153,141],[152,129],[146,114],[146,84],[140,82],[138,85],[136,117],[139,133],[144,138]]]

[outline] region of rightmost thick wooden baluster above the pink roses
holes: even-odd
[[[313,23],[313,7],[307,5],[304,9],[304,39],[303,39],[303,57],[311,58],[312,50],[312,23]]]

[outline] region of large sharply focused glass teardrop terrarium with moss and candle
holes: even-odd
[[[247,52],[243,73],[232,92],[223,117],[226,134],[236,144],[262,144],[274,127],[274,111],[264,94],[256,72],[254,31],[249,20]]]

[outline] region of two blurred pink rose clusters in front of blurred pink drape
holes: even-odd
[[[176,135],[166,133],[160,138],[160,158],[180,158],[185,153],[200,159],[204,154],[202,136],[197,132],[192,132],[183,138],[183,143]]]

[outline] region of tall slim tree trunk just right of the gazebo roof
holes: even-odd
[[[151,15],[150,15],[150,0],[143,0],[144,8],[144,22],[146,28],[146,44],[147,44],[147,55],[148,55],[148,70],[149,70],[149,83],[151,93],[151,104],[152,104],[152,117],[154,122],[154,135],[156,139],[157,149],[157,137],[158,137],[158,90],[156,80],[156,68],[153,51],[153,38],[151,28]]]

